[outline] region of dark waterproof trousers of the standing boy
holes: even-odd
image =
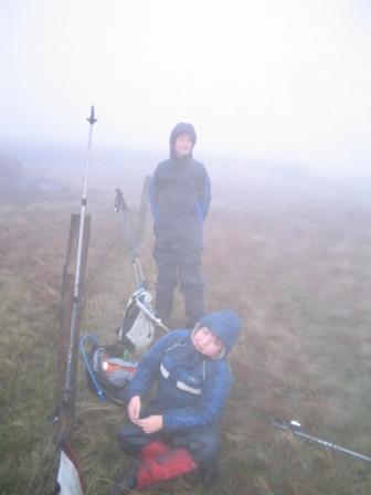
[[[201,250],[159,249],[153,257],[157,263],[156,310],[168,319],[172,313],[174,288],[180,285],[184,296],[187,325],[192,327],[204,314]]]

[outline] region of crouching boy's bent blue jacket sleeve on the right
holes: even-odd
[[[173,431],[213,423],[222,414],[232,383],[232,373],[224,361],[223,366],[219,368],[219,372],[205,380],[197,406],[174,408],[163,412],[163,429]]]

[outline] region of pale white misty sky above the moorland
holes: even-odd
[[[352,166],[371,158],[368,0],[0,0],[0,140]]]

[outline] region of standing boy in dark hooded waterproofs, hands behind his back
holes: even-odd
[[[180,123],[173,128],[170,159],[158,165],[149,193],[156,236],[153,257],[158,267],[157,315],[169,325],[179,282],[189,328],[204,313],[202,227],[211,200],[208,172],[192,157],[195,140],[191,124]]]

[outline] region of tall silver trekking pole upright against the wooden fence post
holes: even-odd
[[[83,241],[84,241],[84,225],[85,225],[85,210],[86,210],[86,190],[87,190],[87,179],[88,170],[91,166],[92,157],[92,137],[93,137],[93,125],[97,122],[94,115],[94,106],[91,108],[91,116],[86,119],[89,123],[88,140],[87,140],[87,152],[86,152],[86,164],[85,164],[85,178],[83,197],[81,201],[81,215],[80,215],[80,231],[78,231],[78,242],[77,242],[77,254],[76,254],[76,271],[75,271],[75,282],[74,282],[74,296],[72,302],[72,313],[71,313],[71,334],[70,334],[70,348],[67,355],[67,365],[65,373],[65,385],[63,390],[63,403],[68,406],[71,399],[72,389],[72,360],[74,354],[74,341],[76,335],[76,322],[77,322],[77,308],[80,303],[80,283],[81,283],[81,266],[82,266],[82,253],[83,253]]]

